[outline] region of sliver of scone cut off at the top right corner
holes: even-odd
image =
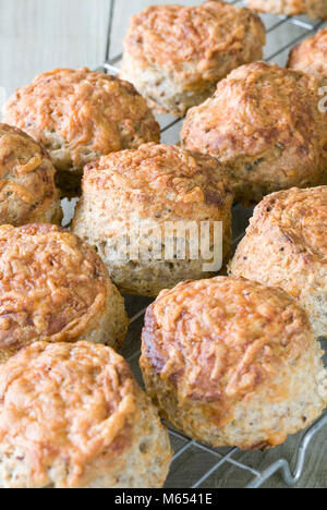
[[[313,20],[327,20],[326,0],[247,0],[249,9],[293,16],[306,14]]]

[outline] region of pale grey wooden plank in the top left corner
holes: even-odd
[[[97,66],[109,8],[110,0],[0,0],[0,86],[11,94],[56,66]]]

